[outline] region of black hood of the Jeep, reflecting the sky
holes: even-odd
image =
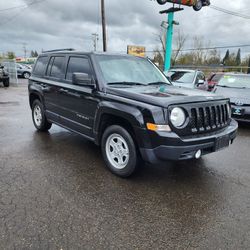
[[[108,94],[114,94],[127,99],[140,101],[147,104],[167,107],[173,103],[184,104],[190,102],[206,102],[225,99],[211,92],[180,88],[172,85],[162,86],[136,86],[136,87],[108,87]]]

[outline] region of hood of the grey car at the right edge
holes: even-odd
[[[242,105],[250,105],[250,88],[249,89],[237,89],[237,88],[223,88],[217,86],[214,93],[230,98],[231,103],[240,102]]]

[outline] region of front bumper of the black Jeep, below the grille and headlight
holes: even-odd
[[[228,147],[236,138],[237,129],[238,123],[232,120],[228,127],[209,136],[181,139],[178,136],[168,137],[165,133],[165,138],[159,138],[161,142],[165,141],[165,144],[155,148],[140,148],[140,152],[143,160],[152,164],[167,160],[193,159],[198,150],[201,150],[202,155],[206,155]]]

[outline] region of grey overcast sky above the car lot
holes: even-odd
[[[93,50],[92,33],[100,35],[98,49],[101,50],[100,0],[45,0],[25,7],[33,1],[0,0],[0,53],[14,51],[23,56],[23,43],[28,54],[30,50],[41,52],[42,49],[68,47],[89,51]],[[147,50],[159,46],[156,34],[167,18],[159,11],[170,4],[160,6],[150,0],[105,1],[109,51],[126,52],[128,44],[144,45]],[[249,0],[211,2],[246,15],[250,10]],[[20,8],[15,8],[18,6]],[[223,14],[209,7],[200,12],[185,7],[185,11],[175,15],[175,20],[180,22],[175,34],[180,29],[188,35],[186,48],[192,47],[195,35],[210,40],[212,46],[250,44],[250,19]],[[243,52],[244,55],[250,53],[250,47]]]

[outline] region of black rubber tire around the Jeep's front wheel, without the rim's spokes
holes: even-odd
[[[112,146],[110,146],[109,144],[109,140],[114,135],[119,135],[121,138],[123,138],[123,140],[126,142],[125,146],[127,147],[128,152],[129,152],[127,163],[121,169],[118,169],[117,167],[114,166],[114,164],[110,160],[110,156],[109,156],[110,154],[107,151],[108,148],[109,150],[111,150],[112,148]],[[126,178],[126,177],[131,176],[133,173],[135,173],[140,163],[140,156],[138,154],[136,144],[133,138],[131,137],[130,133],[126,129],[118,125],[113,125],[113,126],[108,127],[102,136],[101,148],[102,148],[102,154],[103,154],[103,158],[106,163],[106,166],[113,174],[122,178]],[[118,158],[117,158],[117,161],[118,161]]]

